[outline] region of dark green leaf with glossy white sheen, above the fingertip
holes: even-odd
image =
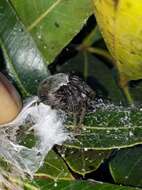
[[[9,1],[0,1],[0,45],[7,69],[24,95],[36,93],[47,76],[45,62]]]

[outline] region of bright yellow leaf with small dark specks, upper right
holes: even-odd
[[[142,78],[142,1],[93,0],[107,46],[125,81]]]

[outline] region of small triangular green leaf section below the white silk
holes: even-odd
[[[63,159],[53,150],[48,153],[43,166],[35,174],[40,178],[52,178],[54,180],[72,180],[73,176],[68,170]]]

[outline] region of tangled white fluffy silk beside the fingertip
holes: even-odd
[[[64,129],[64,120],[63,113],[38,103],[38,98],[33,97],[13,122],[0,127],[0,156],[32,176],[42,165],[48,151],[55,144],[61,145],[70,138]],[[24,126],[29,126],[26,132]],[[27,131],[32,131],[35,137],[35,144],[30,148],[17,140],[19,133],[26,137]]]

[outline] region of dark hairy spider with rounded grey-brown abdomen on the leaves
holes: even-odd
[[[74,124],[77,125],[83,122],[95,92],[77,75],[58,73],[41,82],[38,97],[53,109],[72,115]]]

